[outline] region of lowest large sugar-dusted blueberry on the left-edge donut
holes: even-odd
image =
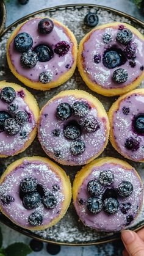
[[[4,131],[9,135],[15,135],[20,131],[20,125],[15,119],[9,118],[4,121]]]

